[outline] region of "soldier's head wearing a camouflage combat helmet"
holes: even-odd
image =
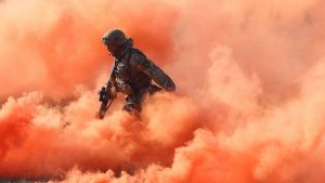
[[[106,31],[103,36],[103,43],[113,56],[116,56],[120,49],[128,42],[126,34],[119,29]]]

